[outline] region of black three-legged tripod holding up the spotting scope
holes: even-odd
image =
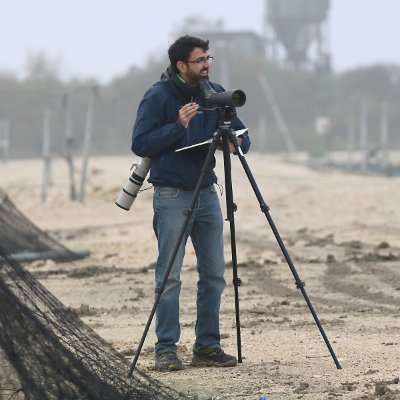
[[[261,195],[260,190],[258,189],[258,186],[255,182],[255,179],[250,171],[250,168],[247,164],[247,161],[243,155],[242,150],[240,149],[236,135],[233,133],[230,125],[232,118],[235,116],[235,112],[231,107],[218,107],[215,109],[215,111],[218,113],[218,129],[216,134],[214,135],[214,138],[211,142],[210,148],[208,150],[206,159],[204,161],[203,167],[201,169],[201,174],[199,177],[199,180],[197,182],[196,188],[193,192],[193,197],[191,199],[191,203],[189,208],[185,211],[185,219],[183,222],[183,225],[181,227],[181,230],[179,232],[178,240],[175,244],[175,247],[172,251],[171,259],[169,260],[169,263],[166,267],[164,277],[160,283],[159,286],[156,287],[155,293],[156,293],[156,298],[153,304],[153,308],[150,312],[149,318],[147,320],[142,338],[139,342],[138,348],[135,352],[135,357],[132,361],[132,365],[129,369],[128,372],[128,378],[132,377],[133,371],[136,367],[137,361],[139,359],[141,350],[143,348],[144,341],[146,339],[147,333],[150,329],[151,322],[153,320],[154,314],[156,312],[158,303],[160,302],[161,295],[165,289],[165,286],[167,284],[167,280],[169,277],[169,274],[171,272],[172,266],[174,264],[176,255],[178,253],[180,244],[183,240],[183,237],[185,235],[186,228],[189,224],[189,219],[192,215],[193,209],[195,207],[197,198],[199,196],[199,192],[201,190],[202,182],[204,180],[205,175],[208,173],[210,166],[212,165],[212,160],[214,157],[214,154],[217,150],[218,145],[222,142],[223,146],[223,158],[224,158],[224,173],[225,173],[225,196],[226,196],[226,208],[227,208],[227,221],[229,221],[229,228],[230,228],[230,236],[231,236],[231,254],[232,254],[232,269],[233,269],[233,286],[234,286],[234,294],[235,294],[235,317],[236,317],[236,334],[237,334],[237,354],[238,354],[238,362],[242,362],[242,351],[241,351],[241,332],[240,332],[240,313],[239,313],[239,286],[241,285],[241,280],[238,277],[237,273],[237,253],[236,253],[236,238],[235,238],[235,221],[234,221],[234,212],[236,211],[236,205],[233,202],[233,190],[232,190],[232,173],[231,173],[231,159],[230,159],[230,151],[229,151],[229,143],[232,143],[234,148],[235,148],[235,153],[238,155],[240,162],[243,166],[243,169],[246,173],[246,176],[250,182],[250,185],[257,197],[257,200],[260,204],[261,211],[265,214],[268,223],[274,233],[274,236],[279,244],[279,247],[285,257],[285,260],[287,264],[289,265],[289,268],[294,276],[295,282],[296,282],[296,287],[300,289],[302,292],[304,299],[308,305],[308,308],[310,309],[310,312],[314,318],[315,323],[318,326],[318,329],[325,341],[326,346],[328,347],[328,350],[335,362],[335,365],[338,369],[341,369],[342,367],[339,364],[338,359],[336,358],[335,352],[333,351],[333,348],[331,344],[329,343],[328,337],[325,334],[325,331],[318,319],[318,316],[313,308],[313,305],[311,304],[310,299],[308,298],[308,295],[304,289],[305,283],[300,279],[299,274],[296,271],[296,268],[289,256],[289,253],[286,250],[286,247],[279,235],[279,232],[275,226],[275,223],[269,213],[269,207],[267,204],[264,202],[264,199]]]

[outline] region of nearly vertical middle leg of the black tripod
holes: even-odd
[[[237,255],[236,255],[236,231],[235,217],[236,205],[233,203],[232,190],[232,171],[231,158],[229,152],[229,142],[227,135],[222,135],[223,152],[224,152],[224,173],[225,173],[225,198],[226,198],[226,213],[229,221],[229,229],[231,236],[231,254],[232,254],[232,272],[233,272],[233,287],[235,292],[235,314],[236,314],[236,336],[237,336],[237,354],[238,362],[242,362],[242,341],[240,332],[240,315],[239,315],[239,286],[241,280],[238,278]]]

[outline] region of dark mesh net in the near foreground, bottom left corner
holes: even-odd
[[[0,243],[0,399],[183,399],[135,370]]]

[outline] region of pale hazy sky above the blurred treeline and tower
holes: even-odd
[[[193,15],[226,29],[263,30],[263,0],[0,0],[0,70],[22,77],[27,55],[58,60],[62,76],[107,82],[149,55],[165,53]],[[400,64],[400,0],[331,0],[329,43],[337,71]]]

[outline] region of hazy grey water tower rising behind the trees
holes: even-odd
[[[330,0],[266,0],[267,56],[283,58],[296,67],[329,69],[326,33],[329,5]]]

